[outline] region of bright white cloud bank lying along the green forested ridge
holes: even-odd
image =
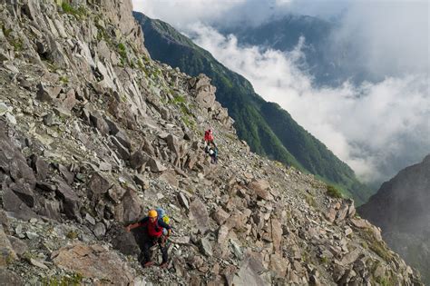
[[[249,79],[263,98],[288,110],[367,181],[386,180],[398,171],[398,166],[391,166],[393,161],[403,158],[405,167],[430,151],[425,74],[315,88],[296,64],[303,39],[295,51],[283,54],[239,47],[233,35],[224,37],[205,25],[193,25],[190,31],[197,44]]]

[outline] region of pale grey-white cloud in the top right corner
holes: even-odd
[[[429,73],[428,1],[357,1],[331,38],[333,54],[381,78]]]

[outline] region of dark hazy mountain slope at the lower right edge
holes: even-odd
[[[430,284],[430,155],[384,182],[359,212]]]

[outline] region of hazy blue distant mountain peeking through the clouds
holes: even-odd
[[[282,52],[292,51],[300,36],[305,38],[298,64],[312,75],[314,84],[338,85],[346,80],[360,83],[370,80],[354,54],[354,46],[333,45],[331,35],[339,25],[308,15],[286,15],[258,26],[237,25],[221,28],[223,35],[235,35],[239,45],[257,45]]]

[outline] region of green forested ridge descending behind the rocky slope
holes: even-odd
[[[217,100],[229,109],[239,137],[249,143],[252,151],[336,184],[358,204],[366,202],[370,191],[357,181],[351,168],[299,126],[288,112],[263,100],[248,80],[231,72],[171,25],[141,13],[133,15],[142,25],[145,46],[153,59],[179,67],[187,74],[210,76],[217,87]]]

